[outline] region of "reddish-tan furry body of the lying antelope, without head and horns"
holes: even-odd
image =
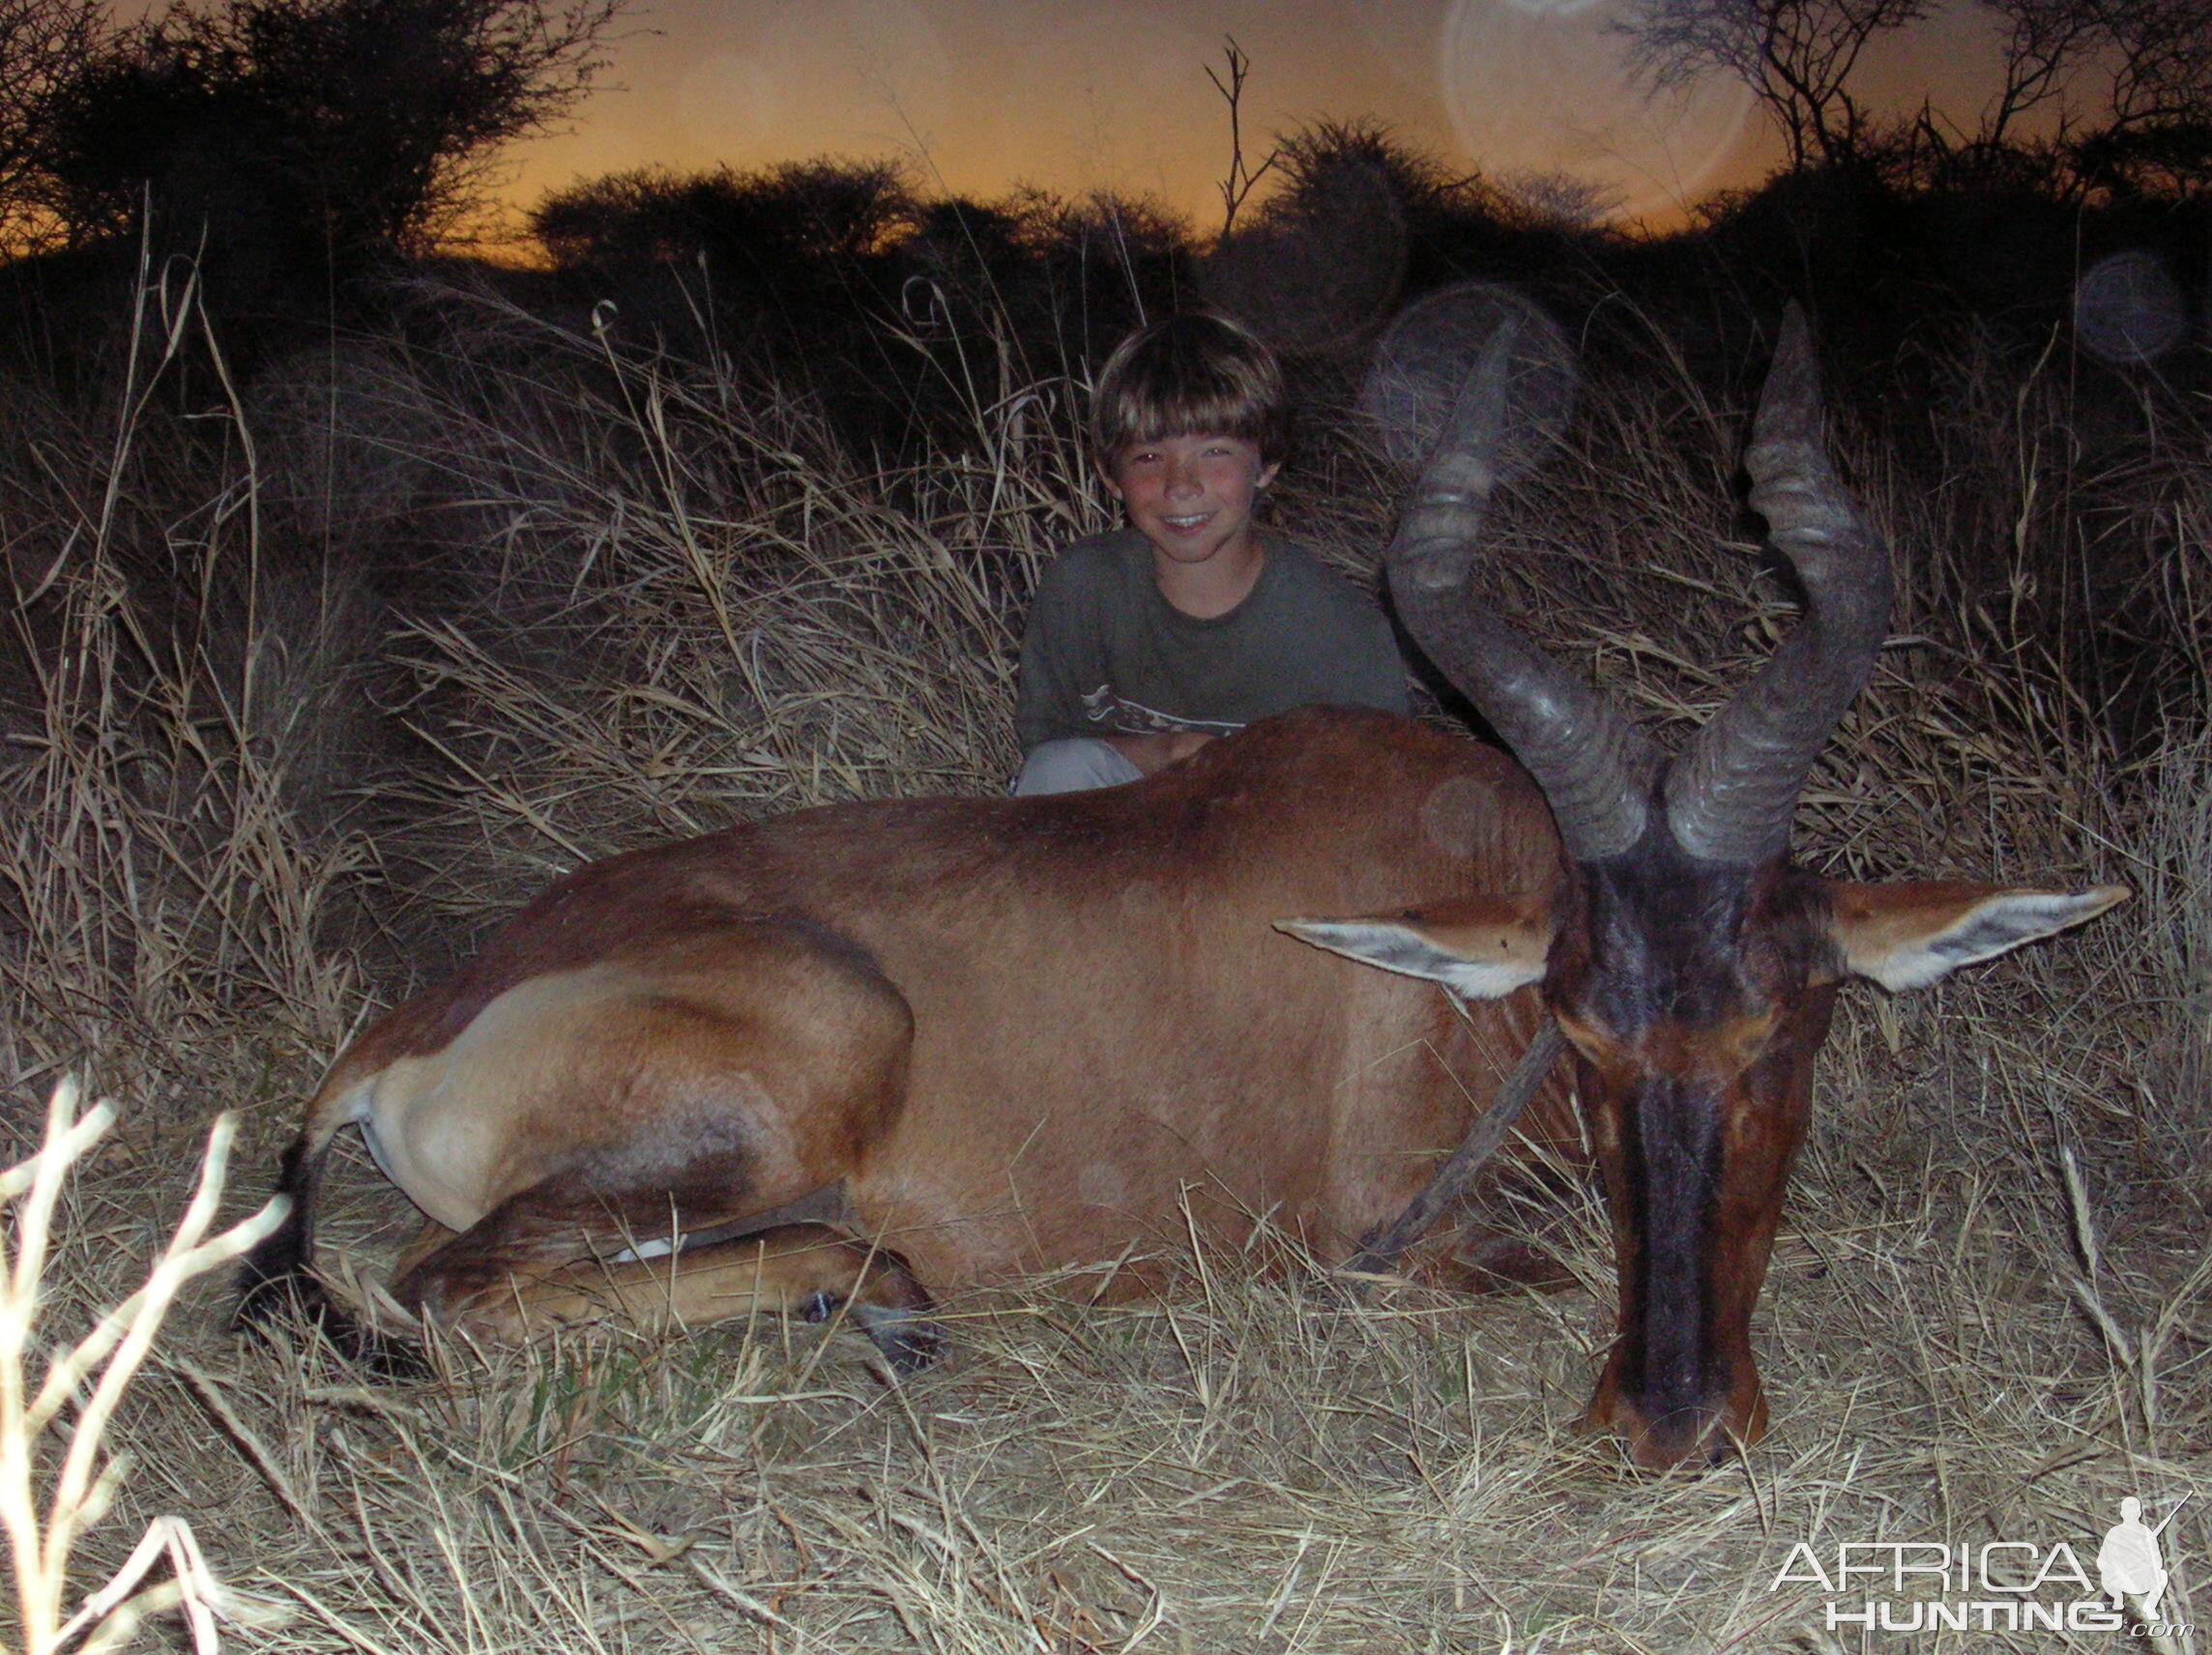
[[[489,1336],[624,1270],[690,1316],[723,1263],[588,1259],[823,1188],[931,1290],[1175,1250],[1186,1204],[1340,1257],[1458,1139],[1535,996],[1469,1024],[1272,920],[1557,876],[1511,761],[1352,710],[1099,794],[803,812],[566,878],[338,1060],[310,1146],[372,1133],[456,1232],[400,1297]],[[1531,1126],[1575,1137],[1559,1095]]]

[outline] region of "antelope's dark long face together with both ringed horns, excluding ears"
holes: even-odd
[[[1750,1314],[1838,976],[1827,887],[1790,865],[1790,819],[1874,668],[1889,569],[1820,445],[1812,343],[1792,310],[1745,465],[1805,617],[1668,761],[1464,595],[1506,372],[1493,347],[1422,476],[1389,575],[1407,626],[1559,825],[1571,876],[1542,982],[1577,1053],[1621,1281],[1590,1423],[1659,1469],[1717,1458],[1765,1427]]]

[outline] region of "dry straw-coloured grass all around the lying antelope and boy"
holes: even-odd
[[[49,1281],[62,1323],[159,1250],[215,1102],[274,1146],[365,985],[403,991],[551,872],[1011,768],[1035,560],[1099,518],[1062,387],[980,372],[973,447],[880,476],[763,387],[425,305],[447,310],[436,354],[299,365],[226,440],[148,403],[51,438],[9,491],[40,666],[9,684],[0,779],[4,1124],[64,1064],[124,1100]],[[1588,403],[1486,582],[1681,728],[1787,624],[1732,540],[1736,414],[1663,374]],[[2044,462],[2004,423],[1978,438],[2015,462],[1984,471]],[[2170,591],[2212,591],[2203,436],[2152,458]],[[1947,544],[1955,502],[1860,473],[1920,642],[1823,761],[1803,852],[2117,876],[2141,901],[1931,993],[1849,998],[1759,1323],[1776,1427],[1747,1460],[1641,1482],[1573,1432],[1608,1336],[1593,1292],[1340,1305],[1287,1250],[1192,1261],[1190,1297],[1139,1310],[1051,1283],[949,1305],[951,1356],[907,1385],[843,1330],[781,1323],[445,1352],[436,1381],[367,1385],[230,1343],[204,1294],[111,1425],[135,1469],[82,1580],[188,1511],[221,1580],[288,1609],[234,1648],[1856,1648],[1818,1589],[1770,1591],[1798,1540],[2088,1560],[2121,1496],[2163,1513],[2197,1489],[2168,1609],[2205,1613],[2212,748],[2177,728],[2126,766],[2033,606]],[[1358,564],[1387,516],[1371,467],[1323,443],[1305,476],[1285,513]],[[2024,573],[2070,555],[2079,489],[1984,502]],[[199,597],[164,611],[157,564]],[[394,566],[420,597],[378,586]],[[35,595],[27,569],[51,569]],[[2201,622],[2172,600],[2174,637]],[[405,1204],[352,1170],[327,1239],[374,1257]],[[1588,1199],[1531,1221],[1604,1288]]]

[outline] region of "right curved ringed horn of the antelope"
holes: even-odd
[[[1683,850],[1714,863],[1787,850],[1812,761],[1889,633],[1889,551],[1820,443],[1820,372],[1794,303],[1743,465],[1752,511],[1805,589],[1805,617],[1668,770],[1668,828]]]

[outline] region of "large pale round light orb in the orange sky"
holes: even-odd
[[[1632,0],[1453,0],[1438,42],[1444,108],[1493,181],[1564,175],[1621,217],[1679,212],[1752,115],[1732,75],[1646,95],[1615,24]]]

